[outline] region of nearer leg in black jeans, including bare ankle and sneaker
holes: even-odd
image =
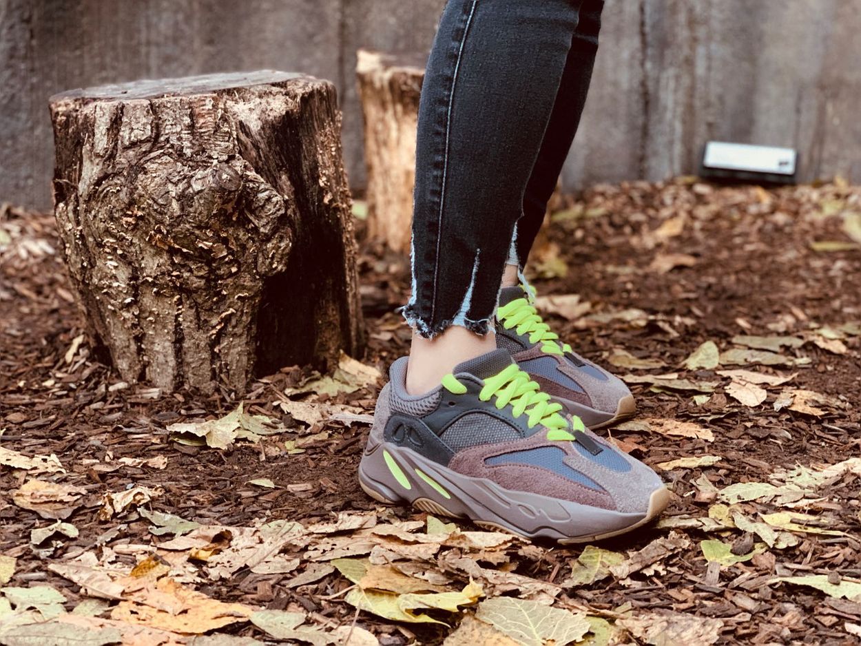
[[[481,353],[495,345],[503,265],[577,4],[449,0],[419,116],[405,311],[416,332],[359,467],[376,500],[562,542],[629,531],[669,500],[652,469],[563,414],[507,351]]]

